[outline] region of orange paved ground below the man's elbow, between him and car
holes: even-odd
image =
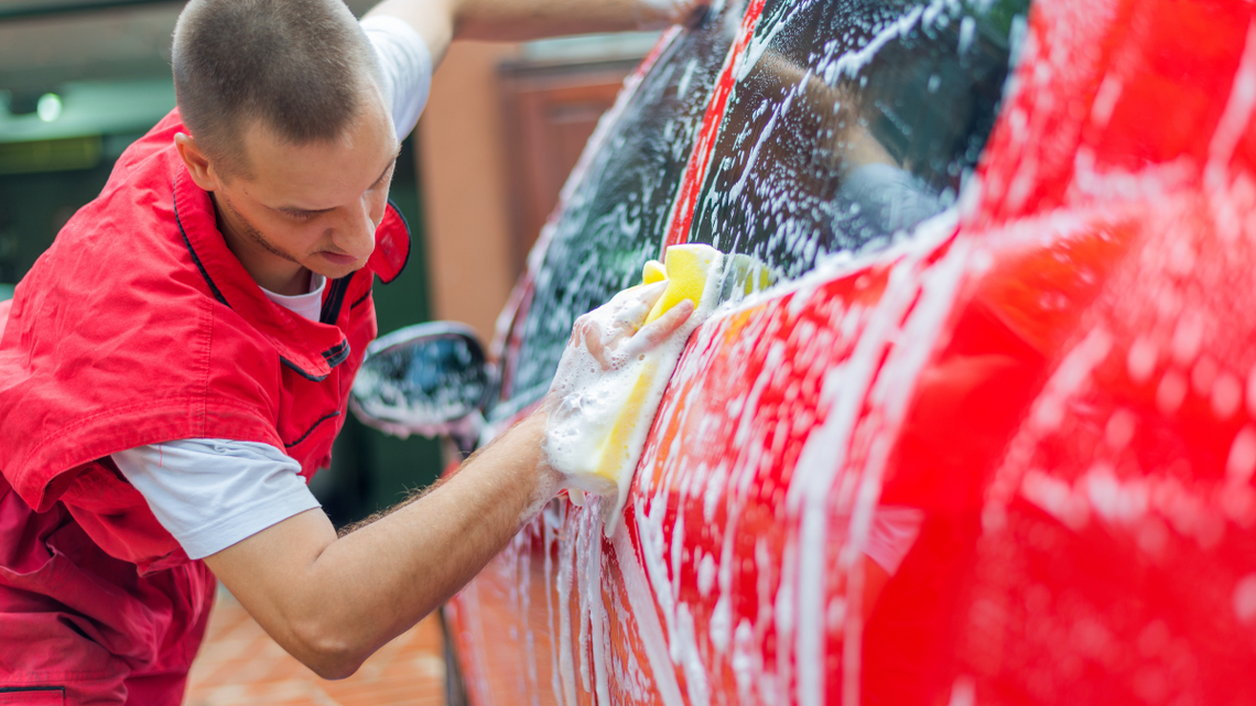
[[[288,656],[220,592],[185,706],[443,706],[445,660],[435,617],[389,642],[358,673],[325,681]]]

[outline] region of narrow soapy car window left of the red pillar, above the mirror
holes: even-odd
[[[575,318],[641,284],[646,261],[658,258],[681,175],[732,44],[727,25],[736,28],[740,16],[741,5],[730,3],[682,31],[593,156],[536,273],[511,391],[504,397],[526,403],[544,394]]]

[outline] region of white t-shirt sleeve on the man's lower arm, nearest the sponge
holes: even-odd
[[[192,559],[320,506],[300,464],[266,443],[186,438],[121,451],[113,462]]]

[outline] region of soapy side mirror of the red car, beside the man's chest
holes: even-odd
[[[416,324],[367,348],[349,407],[367,426],[403,438],[450,435],[474,446],[495,386],[475,330],[451,322]]]

